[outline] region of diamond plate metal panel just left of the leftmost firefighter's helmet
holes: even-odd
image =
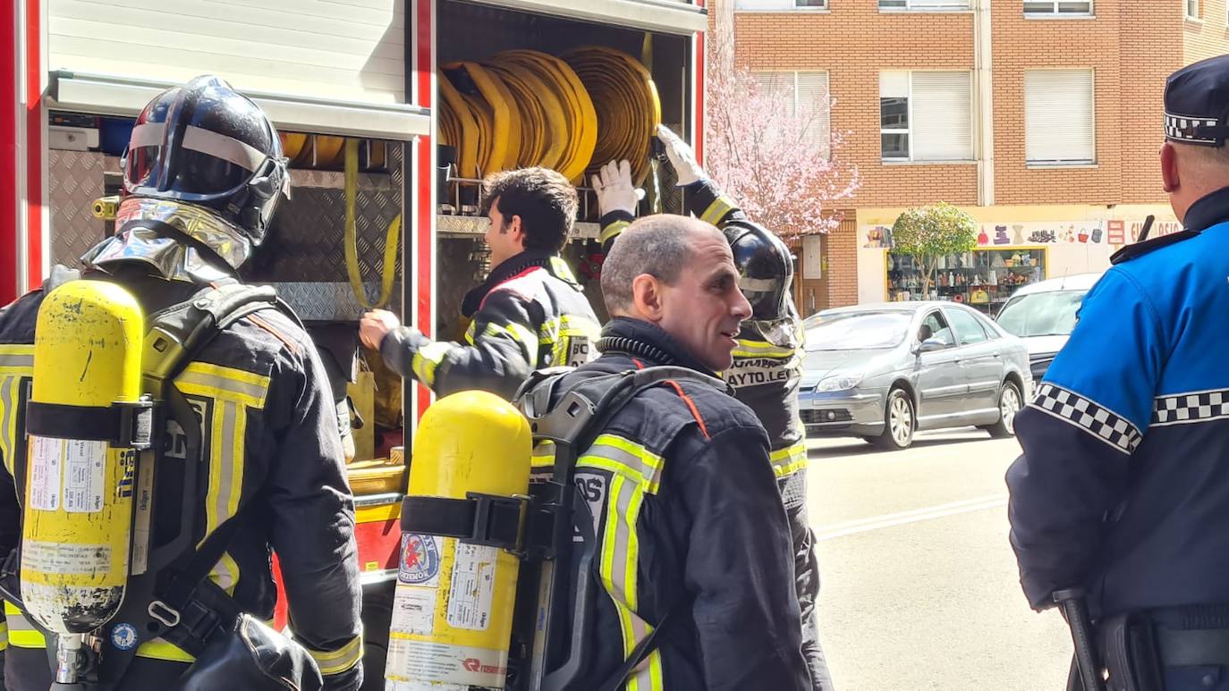
[[[93,151],[48,152],[52,204],[52,264],[76,266],[87,249],[106,237],[104,223],[90,214],[103,195],[103,173],[119,172],[119,160]]]

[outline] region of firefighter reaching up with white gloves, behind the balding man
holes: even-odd
[[[833,689],[820,641],[816,600],[820,567],[815,535],[806,515],[806,439],[798,412],[803,378],[803,320],[794,309],[794,275],[789,248],[763,226],[751,222],[721,194],[696,162],[691,147],[666,126],[658,137],[683,188],[688,214],[717,225],[725,233],[739,269],[739,287],[751,304],[751,318],[739,330],[734,363],[721,372],[734,395],[756,412],[768,431],[777,474],[793,534],[798,601],[803,610],[803,649],[816,691]],[[629,164],[611,162],[594,177],[602,214],[602,244],[610,252],[630,222],[637,206]]]

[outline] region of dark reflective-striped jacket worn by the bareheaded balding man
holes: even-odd
[[[567,374],[675,365],[712,374],[659,328],[616,318],[596,361]],[[667,382],[633,399],[576,463],[599,540],[595,684],[666,612],[686,608],[638,671],[649,690],[810,689],[790,530],[755,414],[728,393]]]

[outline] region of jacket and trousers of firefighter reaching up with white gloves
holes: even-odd
[[[718,227],[747,217],[734,201],[709,180],[683,188],[686,211]],[[614,211],[602,216],[602,249],[610,252],[632,216]],[[734,387],[763,423],[772,448],[772,465],[780,486],[790,533],[794,536],[794,573],[798,601],[803,609],[803,647],[816,691],[831,691],[832,680],[820,641],[816,601],[820,594],[820,565],[815,534],[806,512],[806,438],[798,410],[798,388],[803,380],[803,320],[788,299],[789,317],[774,322],[746,320],[739,330],[734,365],[721,377]]]

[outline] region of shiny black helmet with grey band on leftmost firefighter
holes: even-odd
[[[289,190],[273,123],[225,80],[199,76],[154,97],[122,161],[124,194],[203,206],[259,244]]]

